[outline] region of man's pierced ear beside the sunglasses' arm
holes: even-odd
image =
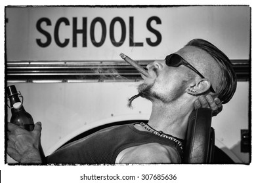
[[[211,82],[203,78],[200,81],[196,82],[196,84],[188,86],[188,88],[186,88],[186,93],[189,93],[190,95],[202,95],[202,93],[207,92],[210,87]]]

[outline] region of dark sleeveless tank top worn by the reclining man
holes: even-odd
[[[148,131],[140,131],[134,127],[134,124],[127,124],[108,127],[71,142],[48,156],[46,161],[47,163],[112,164],[122,150],[152,142],[171,146],[177,149],[177,153],[182,157],[181,148],[176,142]]]

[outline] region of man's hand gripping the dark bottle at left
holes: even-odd
[[[22,129],[8,123],[7,154],[20,163],[42,163],[39,151],[41,122],[35,124],[33,131]]]

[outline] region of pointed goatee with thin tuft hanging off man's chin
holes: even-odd
[[[127,106],[129,108],[133,108],[132,103],[133,100],[137,99],[138,97],[142,97],[145,99],[148,99],[150,101],[152,101],[152,97],[151,97],[151,88],[152,88],[153,84],[146,86],[145,84],[140,84],[138,87],[138,94],[134,95],[133,97],[131,97],[130,99],[128,99],[128,103]]]

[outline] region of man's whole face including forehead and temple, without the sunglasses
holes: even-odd
[[[205,52],[191,46],[182,48],[176,54],[179,54],[188,63],[199,69],[200,73],[203,72],[207,62],[209,64],[213,63],[213,58],[208,58]],[[191,86],[196,78],[200,79],[200,76],[190,68],[184,65],[169,67],[165,64],[165,60],[154,61],[147,66],[147,69],[151,78],[142,76],[144,82],[140,84],[138,91],[142,93],[142,97],[150,99],[150,101],[171,103],[186,93],[186,88]]]

